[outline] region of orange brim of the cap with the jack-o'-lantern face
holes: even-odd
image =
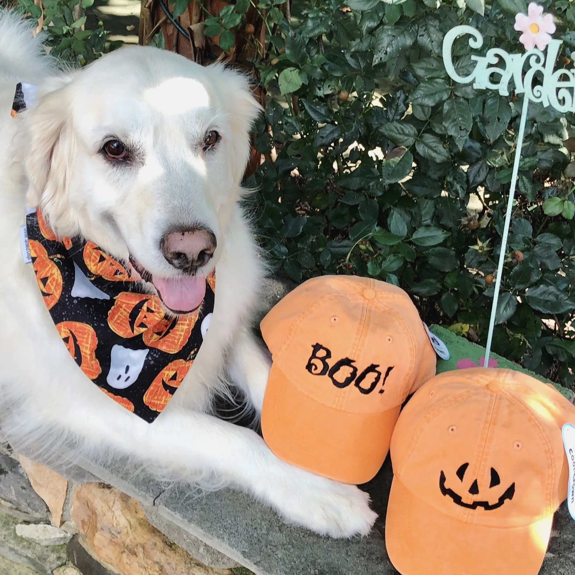
[[[522,527],[463,523],[425,504],[393,478],[385,545],[401,575],[537,575],[553,515]]]

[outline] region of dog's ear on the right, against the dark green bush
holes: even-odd
[[[214,66],[216,67],[216,66]],[[250,131],[254,120],[263,108],[251,91],[248,77],[240,72],[217,66],[223,82],[223,100],[228,112],[228,121],[232,128],[231,168],[234,181],[239,185],[250,159]],[[229,96],[228,96],[229,94]]]

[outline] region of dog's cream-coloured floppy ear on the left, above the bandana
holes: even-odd
[[[56,220],[65,212],[64,198],[74,153],[66,86],[72,76],[52,78],[41,86],[37,104],[23,114],[26,125],[25,169],[29,206],[49,205]]]

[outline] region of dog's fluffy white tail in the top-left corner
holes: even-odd
[[[0,75],[36,83],[53,69],[42,45],[42,35],[34,38],[34,22],[20,14],[0,9]]]

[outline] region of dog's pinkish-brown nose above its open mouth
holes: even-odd
[[[206,228],[187,228],[165,233],[160,241],[162,254],[178,270],[192,273],[212,259],[216,236]]]

